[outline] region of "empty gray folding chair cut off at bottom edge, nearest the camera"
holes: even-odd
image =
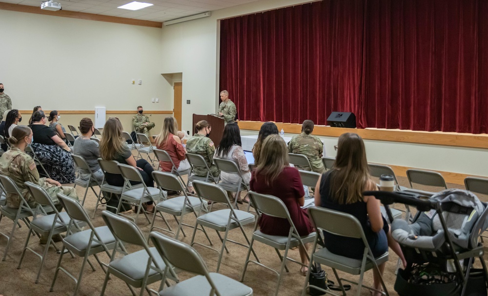
[[[164,288],[159,296],[253,295],[252,289],[243,283],[218,273],[209,273],[203,258],[189,245],[154,231],[149,238],[166,263],[164,275],[168,274],[170,266],[197,275]]]

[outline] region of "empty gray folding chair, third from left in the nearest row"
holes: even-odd
[[[76,287],[75,291],[73,292],[73,296],[76,296],[78,294],[78,290],[80,289],[81,278],[83,276],[86,262],[88,262],[92,270],[95,271],[95,267],[88,259],[88,256],[93,255],[98,264],[100,264],[100,266],[102,267],[102,270],[105,272],[103,263],[100,261],[97,254],[105,252],[105,254],[110,257],[109,250],[115,247],[115,237],[112,235],[110,229],[107,226],[100,226],[95,228],[91,223],[88,214],[83,209],[83,206],[81,206],[81,203],[78,200],[62,194],[58,194],[57,196],[60,199],[64,209],[66,210],[66,213],[68,213],[69,217],[71,218],[71,221],[69,222],[68,229],[66,231],[68,235],[62,240],[61,254],[58,260],[58,265],[56,267],[56,272],[54,273],[53,282],[51,283],[51,289],[49,291],[54,291],[54,285],[56,284],[58,273],[62,271],[75,281]],[[81,230],[78,226],[78,223],[73,223],[74,220],[79,220],[86,223],[88,229]],[[73,232],[72,234],[70,234],[70,231],[73,227],[78,230],[78,232]],[[78,278],[71,275],[66,269],[61,267],[62,257],[65,253],[64,250],[68,250],[72,255],[83,257],[80,275],[78,276]]]

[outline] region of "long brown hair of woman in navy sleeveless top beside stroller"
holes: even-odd
[[[363,201],[363,191],[374,189],[374,181],[367,166],[365,144],[358,134],[345,133],[339,137],[332,170],[334,174],[330,179],[330,196],[339,204]]]

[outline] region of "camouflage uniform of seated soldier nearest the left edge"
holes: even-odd
[[[0,158],[0,174],[7,176],[17,185],[20,193],[31,207],[36,206],[36,202],[30,195],[24,182],[30,181],[44,188],[51,197],[54,204],[59,204],[56,194],[62,193],[68,197],[78,200],[78,195],[73,187],[58,187],[46,182],[46,178],[39,178],[34,160],[19,148],[13,146],[5,152]],[[7,194],[7,206],[18,209],[20,206],[20,197],[16,194]]]

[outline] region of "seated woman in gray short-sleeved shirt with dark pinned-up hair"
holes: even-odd
[[[90,118],[85,117],[80,120],[80,132],[81,136],[75,139],[73,150],[75,155],[86,160],[90,166],[90,172],[80,169],[79,176],[82,180],[87,181],[93,173],[94,177],[102,182],[104,175],[97,160],[100,158],[100,149],[98,142],[91,139],[95,133],[95,127]]]

